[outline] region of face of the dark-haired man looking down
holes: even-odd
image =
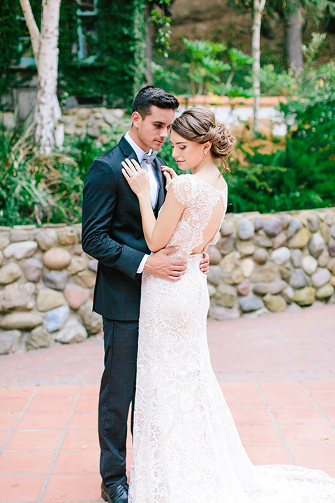
[[[174,110],[170,108],[158,108],[151,106],[151,113],[142,118],[139,112],[133,112],[133,126],[139,147],[144,152],[160,150],[161,146],[168,138],[172,122],[174,121]]]

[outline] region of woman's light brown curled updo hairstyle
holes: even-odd
[[[211,142],[211,156],[223,166],[221,174],[228,169],[227,159],[236,140],[222,122],[216,122],[211,110],[199,107],[185,110],[174,120],[172,129],[186,140],[196,143]]]

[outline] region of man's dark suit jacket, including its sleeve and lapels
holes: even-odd
[[[131,321],[140,316],[141,275],[137,269],[150,251],[144,240],[137,196],[121,173],[121,161],[126,157],[137,159],[122,137],[89,168],[83,192],[82,248],[98,260],[94,311],[108,319]],[[163,161],[156,157],[156,216],[165,198],[162,165]]]

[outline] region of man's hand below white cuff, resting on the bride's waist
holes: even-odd
[[[154,276],[171,281],[178,281],[186,272],[186,261],[172,258],[169,254],[178,250],[178,247],[163,248],[147,258],[144,270]]]

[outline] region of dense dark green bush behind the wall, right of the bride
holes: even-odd
[[[230,163],[233,212],[335,205],[335,99],[297,112],[295,124],[285,148],[275,154],[247,154],[247,166]]]

